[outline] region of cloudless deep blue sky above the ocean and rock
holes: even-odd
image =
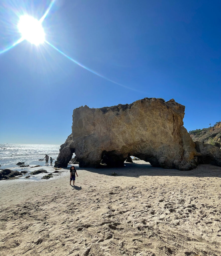
[[[50,1],[0,4],[1,52],[20,38],[19,15],[39,20]],[[221,121],[220,9],[203,0],[56,0],[42,22],[46,40],[128,88],[24,40],[0,55],[0,143],[63,144],[73,109],[144,97],[185,105],[188,131]]]

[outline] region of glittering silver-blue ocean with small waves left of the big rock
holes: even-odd
[[[16,165],[18,162],[24,162],[25,165],[44,165],[45,161],[38,161],[38,159],[43,159],[46,154],[49,158],[54,158],[54,164],[59,149],[60,145],[0,144],[0,165],[2,169],[18,167]]]

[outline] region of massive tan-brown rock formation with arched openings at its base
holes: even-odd
[[[73,153],[79,167],[124,166],[128,156],[136,156],[152,166],[190,170],[201,156],[183,127],[185,106],[144,98],[131,104],[73,110],[72,133],[61,145],[56,166],[67,167]],[[220,151],[221,152],[221,151]]]

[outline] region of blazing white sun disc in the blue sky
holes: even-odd
[[[39,45],[45,41],[45,33],[39,20],[29,15],[22,15],[19,19],[18,30],[23,39],[31,44]]]

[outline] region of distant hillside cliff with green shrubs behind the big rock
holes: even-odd
[[[190,137],[193,141],[200,141],[203,143],[212,144],[221,147],[221,122],[216,122],[214,126],[189,131]]]

